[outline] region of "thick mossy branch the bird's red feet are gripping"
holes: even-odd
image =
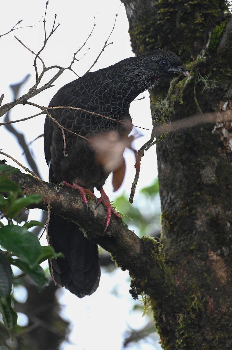
[[[160,300],[171,293],[174,285],[172,273],[165,265],[162,245],[157,240],[151,237],[137,237],[126,224],[115,217],[111,219],[110,226],[104,233],[106,214],[103,205],[99,204],[95,208],[95,201],[90,199],[87,210],[80,193],[76,190],[43,182],[45,195],[39,181],[28,174],[17,172],[9,178],[21,187],[25,195],[37,193],[42,196],[42,201],[31,205],[30,209],[47,210],[46,196],[49,197],[53,214],[76,222],[85,230],[90,240],[111,253],[117,266],[122,270],[128,269],[134,279],[134,297],[145,293],[155,300]]]

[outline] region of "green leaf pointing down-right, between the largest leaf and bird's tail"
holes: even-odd
[[[30,267],[25,261],[20,259],[13,260],[12,264],[20,268],[23,272],[27,273],[37,284],[40,291],[47,284],[47,278],[45,277],[45,272],[41,266],[36,265],[34,267]]]

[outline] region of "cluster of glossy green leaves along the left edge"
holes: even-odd
[[[17,323],[17,313],[12,307],[14,275],[11,265],[28,274],[41,290],[47,283],[40,263],[57,257],[51,246],[41,246],[38,238],[29,231],[33,226],[43,226],[38,221],[19,225],[20,212],[32,203],[39,203],[41,196],[24,196],[21,188],[8,176],[19,171],[0,164],[0,311],[3,322],[12,337]]]

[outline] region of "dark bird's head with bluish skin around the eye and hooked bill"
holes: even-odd
[[[190,77],[187,69],[182,66],[180,56],[172,51],[157,49],[136,58],[134,74],[137,78],[140,77],[140,83],[146,90],[152,89],[161,80],[172,80],[179,75]]]

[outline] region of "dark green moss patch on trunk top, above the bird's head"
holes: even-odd
[[[203,44],[207,27],[226,10],[223,0],[181,2],[180,7],[175,0],[159,0],[152,8],[142,5],[136,24],[129,30],[136,53],[159,47],[179,54],[193,52],[192,37]]]

